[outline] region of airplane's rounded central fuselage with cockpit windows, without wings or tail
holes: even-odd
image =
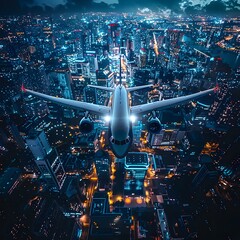
[[[112,98],[109,123],[110,146],[118,158],[126,156],[132,143],[129,98],[126,88],[118,85]]]

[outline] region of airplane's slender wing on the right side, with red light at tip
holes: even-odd
[[[174,107],[177,105],[184,104],[186,102],[189,102],[191,100],[206,96],[210,93],[213,93],[216,91],[216,88],[208,89],[202,92],[190,94],[187,96],[177,97],[177,98],[171,98],[167,100],[132,106],[130,108],[130,111],[132,114],[141,114],[141,113],[147,113],[151,112],[153,110],[163,110],[166,108]]]

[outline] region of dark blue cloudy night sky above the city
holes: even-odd
[[[2,0],[1,14],[28,11],[109,11],[137,8],[170,9],[177,13],[206,13],[239,15],[240,0]]]

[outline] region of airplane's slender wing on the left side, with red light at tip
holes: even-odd
[[[87,102],[79,102],[76,100],[71,100],[71,99],[65,99],[65,98],[58,98],[58,97],[53,97],[49,96],[47,94],[35,92],[29,89],[26,89],[22,86],[22,91],[26,92],[28,94],[31,94],[33,96],[42,98],[46,101],[50,101],[56,104],[59,104],[64,107],[69,107],[72,109],[77,109],[77,110],[86,110],[98,115],[106,115],[110,113],[110,107],[102,106],[102,105],[97,105],[93,103],[87,103]]]

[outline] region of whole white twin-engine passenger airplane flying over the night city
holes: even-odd
[[[107,88],[100,86],[91,86],[97,89],[106,90],[113,92],[112,95],[112,104],[111,106],[102,106],[93,103],[87,102],[79,102],[76,100],[57,98],[53,96],[49,96],[46,94],[42,94],[39,92],[35,92],[29,89],[24,88],[22,86],[22,91],[28,94],[40,97],[44,100],[51,101],[57,104],[60,104],[65,107],[70,107],[77,110],[85,110],[87,113],[95,113],[98,115],[109,116],[109,143],[110,147],[114,153],[114,155],[118,158],[123,158],[127,155],[128,150],[132,144],[133,133],[132,133],[132,122],[131,116],[145,114],[148,112],[154,112],[155,110],[162,110],[166,108],[170,108],[173,106],[181,105],[186,102],[189,102],[193,99],[200,98],[202,96],[208,95],[217,91],[217,87],[208,89],[202,92],[190,94],[187,96],[137,105],[130,106],[129,92],[134,90],[139,90],[142,88],[151,87],[152,85],[125,88],[124,85],[120,84],[115,88]],[[83,122],[82,122],[83,121]],[[80,126],[86,127],[86,129],[90,129],[90,118],[85,116],[81,122]],[[85,123],[85,124],[84,124]],[[159,124],[160,121],[156,116],[153,116],[153,119],[150,121],[151,131],[157,132],[161,130]],[[89,128],[88,128],[89,127]],[[160,130],[159,130],[160,129]],[[88,131],[89,132],[89,131]]]

